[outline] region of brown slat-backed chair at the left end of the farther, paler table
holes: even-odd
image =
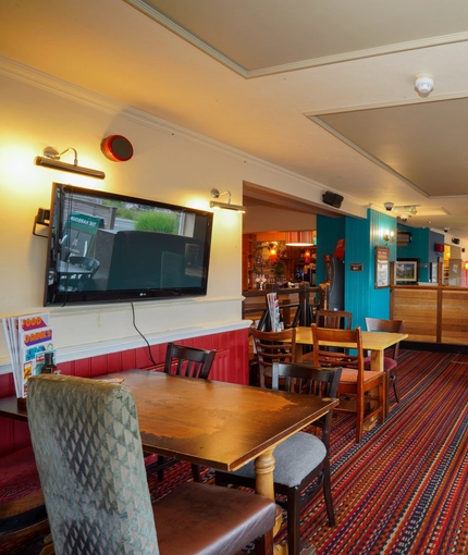
[[[260,387],[271,384],[273,362],[294,362],[296,355],[296,330],[290,328],[282,332],[262,332],[251,330],[256,353]]]

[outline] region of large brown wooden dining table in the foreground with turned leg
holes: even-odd
[[[338,404],[334,398],[147,370],[102,379],[123,380],[132,392],[145,452],[229,471],[255,460],[256,491],[272,499],[274,447]],[[15,402],[0,399],[0,416],[26,420],[27,412]],[[273,534],[280,527],[279,509]],[[275,545],[275,554],[286,550]]]

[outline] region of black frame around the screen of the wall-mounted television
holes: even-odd
[[[137,205],[148,205],[150,207],[158,207],[170,210],[178,210],[188,213],[195,213],[207,219],[207,234],[204,251],[204,275],[200,286],[187,287],[169,287],[169,288],[138,288],[138,289],[106,289],[106,291],[82,291],[82,292],[61,292],[58,287],[59,275],[57,272],[57,264],[53,264],[52,252],[56,251],[57,258],[57,240],[56,240],[56,226],[63,223],[63,211],[61,207],[57,206],[58,190],[62,193],[73,193],[76,195],[85,195],[87,197],[106,198],[110,200],[124,201]],[[57,214],[57,211],[60,211]],[[57,221],[57,218],[59,220]],[[56,225],[54,225],[56,224]],[[187,208],[180,205],[162,202],[159,200],[151,200],[141,197],[134,197],[131,195],[122,195],[101,189],[88,189],[63,183],[52,184],[52,195],[50,203],[50,225],[47,243],[47,257],[46,257],[46,275],[45,275],[45,293],[44,306],[67,306],[67,305],[97,305],[97,304],[118,304],[118,303],[134,303],[145,300],[162,300],[171,298],[190,298],[206,296],[208,292],[208,274],[210,267],[210,252],[211,252],[211,238],[213,226],[213,213],[209,210],[199,210],[195,208]],[[52,264],[52,266],[51,266]],[[50,271],[53,271],[53,282],[49,284]]]

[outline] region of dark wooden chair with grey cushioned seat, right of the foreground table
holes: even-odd
[[[279,390],[282,381],[283,388],[288,392],[336,397],[341,372],[341,368],[323,369],[311,365],[273,362],[272,388]],[[332,412],[330,410],[313,422],[313,425],[321,429],[321,439],[311,433],[298,432],[281,443],[273,453],[274,493],[283,496],[276,498],[276,503],[287,510],[287,547],[291,554],[300,551],[300,510],[319,489],[323,490],[329,525],[335,526],[329,459]],[[218,485],[255,488],[254,462],[236,472],[217,470],[214,480]],[[301,496],[306,489],[307,494]]]

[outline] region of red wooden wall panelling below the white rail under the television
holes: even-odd
[[[217,349],[211,380],[221,382],[248,384],[248,330],[236,330],[201,337],[193,337],[176,342],[182,345]],[[162,371],[164,366],[167,344],[151,345],[151,356],[156,362],[156,370]],[[134,368],[153,367],[147,347],[84,358],[70,362],[62,362],[59,369],[62,374],[78,375],[81,378],[96,378],[112,372],[122,372]],[[13,374],[0,375],[0,397],[14,395]],[[0,456],[30,445],[29,430],[26,422],[0,417]]]

